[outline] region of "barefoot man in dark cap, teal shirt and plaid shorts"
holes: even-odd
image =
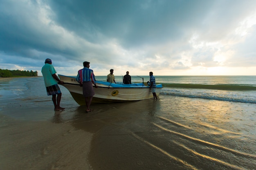
[[[45,65],[42,67],[41,70],[44,80],[45,80],[45,87],[47,91],[47,95],[52,95],[52,102],[54,104],[54,110],[64,110],[65,108],[62,108],[60,106],[61,103],[61,90],[58,86],[58,83],[64,84],[60,79],[58,79],[58,76],[56,75],[56,70],[54,69],[54,66],[52,65],[52,60],[47,58],[45,60]],[[57,99],[56,99],[57,95]]]

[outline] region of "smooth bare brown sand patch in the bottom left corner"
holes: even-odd
[[[0,115],[1,170],[89,170],[92,134],[69,124]]]

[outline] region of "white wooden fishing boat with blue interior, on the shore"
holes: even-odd
[[[64,84],[61,84],[68,91],[79,105],[85,105],[83,97],[83,87],[76,82],[76,77],[58,75]],[[133,84],[114,84],[105,81],[96,81],[98,88],[94,88],[95,95],[92,98],[92,103],[110,103],[110,102],[129,102],[153,97],[149,86],[142,83]],[[94,85],[93,85],[94,86]],[[157,84],[156,93],[159,95],[162,84]]]

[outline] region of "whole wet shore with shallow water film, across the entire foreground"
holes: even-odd
[[[160,95],[93,104],[42,78],[1,84],[1,170],[255,170],[255,104]]]

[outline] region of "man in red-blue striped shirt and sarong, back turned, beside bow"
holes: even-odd
[[[92,103],[92,97],[94,96],[94,89],[92,84],[94,84],[95,88],[98,86],[95,83],[95,78],[93,74],[93,70],[89,69],[90,62],[83,62],[84,68],[78,71],[76,81],[83,85],[83,97],[85,97],[85,104],[87,106],[86,113],[92,112],[90,109],[90,105]]]

